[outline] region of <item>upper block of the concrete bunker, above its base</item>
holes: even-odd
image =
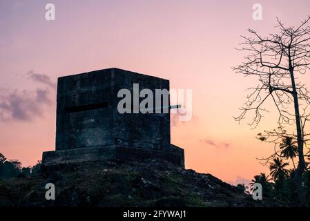
[[[117,92],[128,88],[133,95],[133,84],[139,84],[139,90],[153,90],[154,95],[155,89],[169,90],[166,79],[117,68],[59,77],[56,150],[113,144],[155,149],[169,146],[169,114],[118,113],[122,98]]]

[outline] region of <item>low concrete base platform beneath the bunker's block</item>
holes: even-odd
[[[101,146],[92,148],[76,148],[63,151],[43,152],[42,165],[70,164],[80,162],[96,162],[108,160],[143,161],[159,158],[184,168],[184,150],[171,144],[171,148],[151,150],[126,146]]]

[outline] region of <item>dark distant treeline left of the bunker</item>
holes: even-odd
[[[0,153],[0,178],[23,177],[27,175],[35,175],[41,167],[41,161],[35,166],[22,167],[18,160],[7,160]]]

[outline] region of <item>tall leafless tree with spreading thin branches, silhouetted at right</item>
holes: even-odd
[[[310,27],[308,17],[299,26],[284,26],[278,20],[278,34],[270,34],[267,37],[260,36],[254,30],[249,29],[251,37],[244,37],[244,42],[238,50],[249,52],[245,61],[233,68],[236,73],[245,76],[253,76],[258,79],[258,86],[249,88],[250,94],[242,107],[242,113],[235,117],[236,120],[244,119],[246,113],[253,111],[252,126],[257,126],[262,119],[262,113],[268,112],[264,108],[267,99],[275,104],[278,110],[278,129],[265,131],[265,135],[259,134],[261,140],[277,142],[283,137],[293,137],[298,146],[298,166],[295,173],[298,198],[302,205],[306,204],[302,189],[302,174],[306,169],[304,146],[307,147],[305,128],[310,120],[307,106],[310,104],[309,90],[298,82],[298,75],[307,73],[310,68]],[[287,133],[286,127],[293,125],[292,133]],[[262,138],[263,137],[263,138]],[[278,151],[275,151],[275,155]],[[265,160],[271,159],[270,157]]]

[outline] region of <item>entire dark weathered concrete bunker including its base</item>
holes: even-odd
[[[117,111],[123,88],[130,90],[133,106],[133,84],[154,95],[156,89],[169,90],[166,79],[118,68],[59,77],[56,151],[43,153],[43,164],[157,157],[184,167],[184,151],[170,143],[170,111]]]

